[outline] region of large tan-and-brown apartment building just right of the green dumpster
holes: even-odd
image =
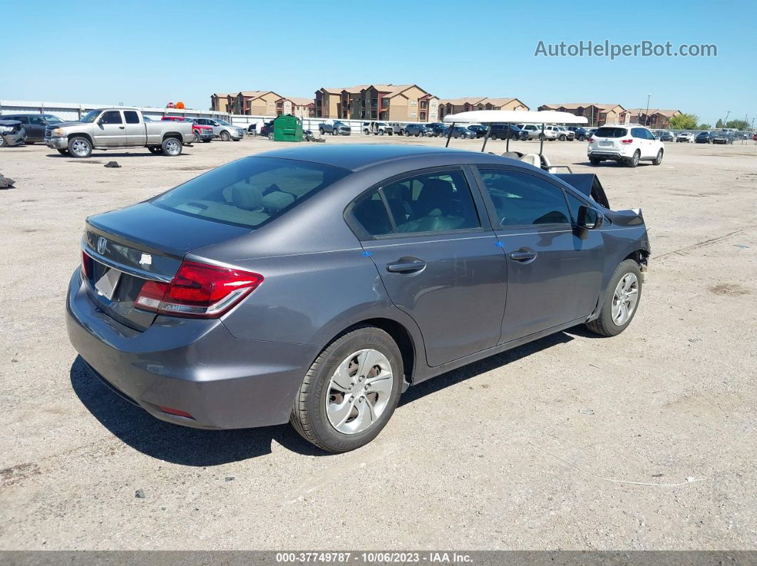
[[[439,99],[418,85],[355,85],[319,88],[316,118],[435,122]]]

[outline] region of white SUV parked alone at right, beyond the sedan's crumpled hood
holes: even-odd
[[[603,125],[591,138],[587,154],[592,165],[611,160],[636,167],[641,159],[662,163],[665,144],[643,125]]]

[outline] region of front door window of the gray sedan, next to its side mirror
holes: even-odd
[[[479,169],[500,227],[570,224],[562,189],[536,175],[503,169]]]

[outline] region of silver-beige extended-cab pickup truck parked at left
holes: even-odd
[[[134,108],[100,108],[79,122],[63,122],[45,128],[45,145],[71,157],[89,157],[93,149],[147,147],[151,153],[177,156],[194,139],[190,122],[145,120]]]

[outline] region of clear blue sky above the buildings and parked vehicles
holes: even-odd
[[[322,86],[391,82],[444,98],[518,97],[534,109],[562,102],[646,107],[651,93],[650,107],[693,112],[702,122],[714,124],[727,110],[750,122],[757,116],[754,0],[0,6],[13,23],[5,31],[23,34],[19,42],[5,38],[2,75],[12,80],[0,83],[0,100],[159,107],[181,100],[207,109],[214,91],[312,97]],[[540,40],[605,39],[715,44],[718,56],[534,57]]]

